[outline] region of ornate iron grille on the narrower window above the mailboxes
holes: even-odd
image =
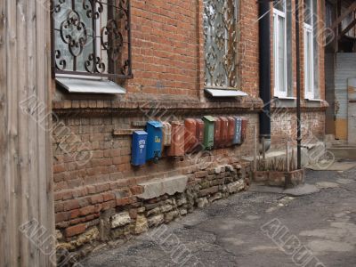
[[[238,0],[204,0],[205,85],[238,86]]]

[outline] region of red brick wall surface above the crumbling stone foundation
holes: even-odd
[[[242,156],[253,156],[255,129],[258,135],[257,113],[262,108],[258,99],[257,1],[240,1],[239,80],[240,89],[250,96],[239,100],[212,100],[204,94],[202,0],[131,2],[134,79],[126,81],[127,93],[103,96],[55,91],[55,214],[59,235],[66,242],[97,227],[98,218],[107,210],[122,211],[136,205],[136,195],[141,192],[138,182],[197,171],[197,158],[190,157],[182,161],[164,157],[158,165],[133,167],[131,137],[115,136],[114,130],[139,129],[133,122],[150,119],[240,115],[249,118],[246,142],[198,158],[219,165],[236,164]],[[320,53],[320,64],[322,61]],[[293,62],[295,65],[295,59]],[[305,103],[303,106],[303,124],[322,137],[323,111],[307,109]],[[158,110],[152,115],[148,107]],[[272,117],[274,149],[283,149],[281,140],[295,132],[295,109],[288,112],[286,119]],[[281,128],[289,129],[290,133],[280,131]],[[88,155],[90,160],[86,160]]]

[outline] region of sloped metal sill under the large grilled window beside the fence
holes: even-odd
[[[82,79],[77,77],[56,77],[57,84],[69,93],[109,93],[124,94],[126,90],[106,79]]]

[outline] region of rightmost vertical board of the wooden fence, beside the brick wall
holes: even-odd
[[[42,127],[38,128],[38,169],[44,170],[38,174],[39,222],[45,225],[49,233],[55,237],[54,232],[54,198],[53,198],[53,163],[52,163],[52,91],[51,91],[51,23],[49,6],[36,2],[36,87],[39,101],[44,102],[45,114],[38,114],[45,119]],[[45,116],[45,117],[43,117]],[[42,141],[42,142],[41,142]],[[54,244],[53,244],[54,245]],[[53,247],[55,253],[55,247]],[[49,257],[41,257],[41,266],[51,266]]]

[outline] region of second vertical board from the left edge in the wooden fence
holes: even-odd
[[[17,84],[17,9],[16,1],[6,1],[6,68],[7,68],[7,83],[6,91],[8,95],[6,108],[8,117],[6,117],[7,130],[7,166],[6,180],[8,182],[9,212],[6,214],[7,236],[9,239],[8,255],[11,266],[19,265],[20,259],[20,242],[17,225],[19,225],[19,216],[21,214],[19,203],[20,198],[20,175],[18,172],[19,165],[19,149],[18,149],[18,93],[19,87]]]

